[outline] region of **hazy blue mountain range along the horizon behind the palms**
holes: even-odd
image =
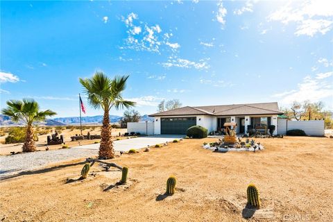
[[[122,117],[110,115],[110,123],[118,123]],[[103,116],[82,117],[83,124],[100,124],[103,121]],[[143,115],[140,121],[154,121],[153,117],[148,117],[147,114]],[[46,119],[44,122],[37,123],[37,125],[45,126],[65,126],[80,124],[80,117],[58,117],[54,119]],[[22,126],[23,123],[14,123],[10,117],[0,114],[0,126]]]

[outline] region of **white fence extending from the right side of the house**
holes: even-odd
[[[323,136],[325,134],[323,120],[290,121],[278,119],[278,134],[285,135],[288,130],[304,130],[309,136]]]

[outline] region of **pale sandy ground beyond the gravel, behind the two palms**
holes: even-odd
[[[89,130],[83,130],[83,135],[87,135],[87,133],[90,132],[90,135],[100,135],[101,134],[101,129],[96,128],[94,130],[89,129]],[[123,134],[126,133],[127,129],[112,129],[112,136],[116,137],[119,135],[119,133]],[[54,133],[54,129],[53,129]],[[92,140],[80,140],[80,141],[75,141],[71,142],[71,137],[74,135],[80,134],[80,130],[75,129],[75,130],[62,130],[60,135],[64,135],[65,137],[65,144],[69,147],[74,147],[74,146],[80,146],[80,145],[87,145],[87,144],[94,144],[94,142],[99,142],[101,139],[92,139]],[[36,142],[36,148],[37,151],[45,151],[46,144],[47,144],[47,136],[51,135],[51,133],[47,135],[40,135],[38,136],[38,141]],[[5,141],[6,136],[0,137],[0,142]],[[118,138],[118,137],[117,137]],[[125,139],[125,137],[119,137],[120,139]],[[116,138],[115,138],[116,139]],[[0,144],[0,155],[10,155],[10,152],[21,152],[22,151],[22,145],[23,144]],[[61,145],[52,145],[48,146],[49,150],[55,150],[58,148],[61,148],[63,144]]]

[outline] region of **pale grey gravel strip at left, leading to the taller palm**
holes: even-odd
[[[93,149],[66,148],[0,156],[0,180],[24,171],[42,169],[51,163],[92,157],[97,154],[98,150]]]

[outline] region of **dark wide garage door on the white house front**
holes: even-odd
[[[161,118],[161,134],[184,135],[191,126],[196,126],[196,117]]]

